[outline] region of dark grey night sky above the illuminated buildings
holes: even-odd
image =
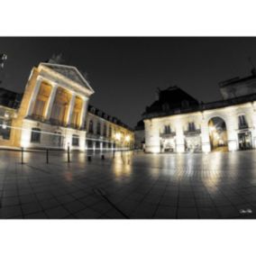
[[[62,53],[88,74],[90,104],[134,126],[157,87],[178,86],[200,101],[221,99],[218,83],[250,74],[256,38],[1,38],[8,55],[1,87],[23,92],[33,66]]]

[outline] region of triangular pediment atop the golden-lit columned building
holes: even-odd
[[[52,69],[63,77],[69,78],[70,80],[94,92],[93,88],[90,87],[89,83],[87,82],[87,79],[84,78],[84,76],[78,71],[76,67],[46,62],[42,62],[40,65]]]

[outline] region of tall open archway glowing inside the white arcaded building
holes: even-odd
[[[227,131],[224,119],[213,117],[208,122],[212,151],[228,151]]]

